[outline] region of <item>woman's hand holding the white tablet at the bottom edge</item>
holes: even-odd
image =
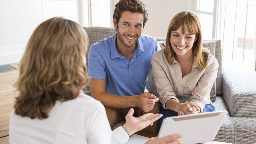
[[[181,137],[181,134],[173,134],[159,139],[157,137],[152,137],[145,144],[182,144],[181,141],[176,140]]]

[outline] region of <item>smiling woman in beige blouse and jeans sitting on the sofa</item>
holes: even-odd
[[[165,48],[152,56],[151,64],[163,114],[159,126],[168,116],[215,111],[210,91],[219,64],[202,47],[196,13],[183,11],[173,17]]]

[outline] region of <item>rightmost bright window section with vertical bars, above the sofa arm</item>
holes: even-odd
[[[255,64],[256,1],[225,0],[221,3],[223,61]]]

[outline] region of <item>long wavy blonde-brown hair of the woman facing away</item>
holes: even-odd
[[[40,24],[19,63],[15,113],[45,119],[57,100],[78,97],[89,80],[88,43],[85,30],[71,20],[54,17]]]

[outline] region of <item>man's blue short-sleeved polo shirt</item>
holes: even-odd
[[[152,68],[151,57],[160,49],[157,40],[141,35],[132,59],[117,52],[116,34],[104,38],[89,48],[88,75],[94,79],[105,79],[105,91],[132,96],[148,92],[145,88]]]

